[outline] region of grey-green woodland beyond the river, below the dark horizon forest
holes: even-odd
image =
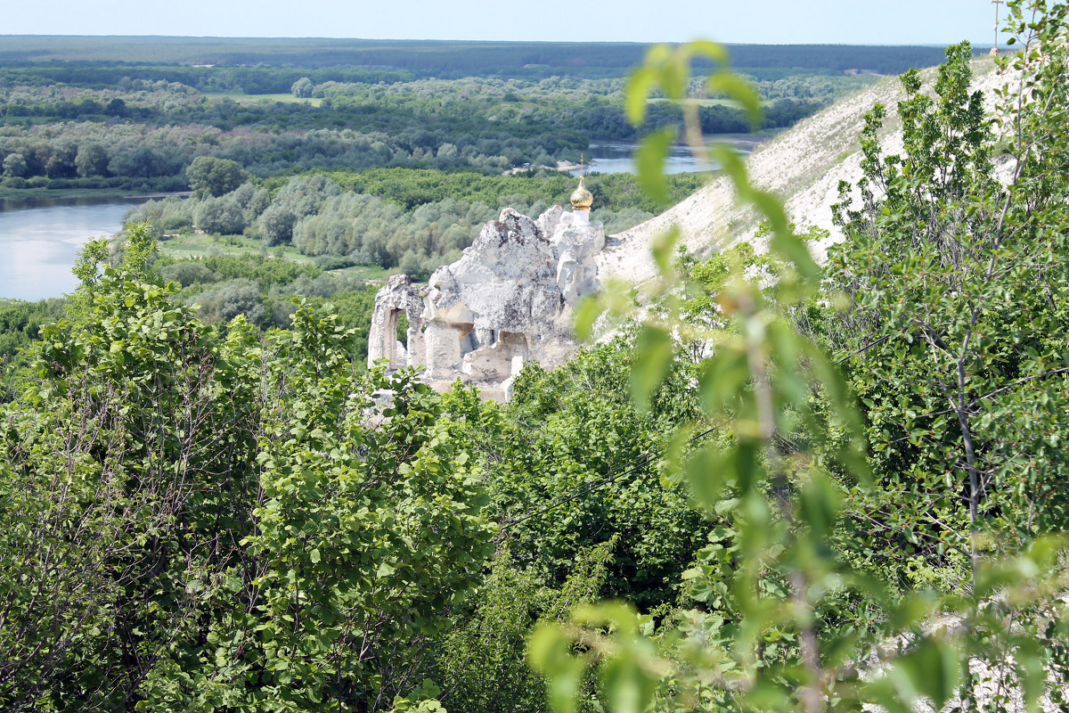
[[[267,69],[258,69],[267,72]],[[6,188],[181,190],[193,158],[236,160],[261,177],[280,170],[410,166],[500,173],[576,160],[591,141],[636,139],[622,79],[540,81],[468,77],[309,83],[301,100],[210,96],[123,76],[105,89],[0,73],[0,166]],[[790,76],[764,82],[763,128],[789,126],[870,77]],[[293,84],[296,93],[304,90]],[[288,87],[288,91],[289,91]],[[700,88],[695,89],[700,95]],[[292,97],[298,98],[298,97]],[[656,124],[679,123],[671,104]],[[740,110],[700,108],[710,134],[745,133]]]

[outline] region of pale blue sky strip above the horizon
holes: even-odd
[[[0,0],[0,35],[990,45],[994,15],[991,0]]]

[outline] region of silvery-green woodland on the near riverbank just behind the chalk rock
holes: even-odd
[[[324,266],[378,265],[416,279],[458,260],[502,207],[538,216],[574,188],[574,179],[557,171],[501,176],[407,168],[278,174],[258,185],[243,183],[236,162],[212,157],[196,159],[189,175],[191,198],[150,200],[127,220],[148,221],[161,236],[191,229],[244,234],[265,251],[292,245]],[[587,187],[598,205],[594,219],[611,234],[683,200],[703,180],[675,174],[660,201],[630,173],[593,175]]]

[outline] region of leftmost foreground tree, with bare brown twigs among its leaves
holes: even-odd
[[[77,323],[43,331],[41,381],[4,415],[5,710],[131,710],[160,655],[198,636],[193,583],[244,572],[254,403],[235,369],[252,335],[219,341],[108,270]],[[213,432],[217,447],[195,440]]]

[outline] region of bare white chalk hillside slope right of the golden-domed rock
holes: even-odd
[[[985,92],[989,107],[994,90],[1005,83],[989,58],[973,62],[973,86]],[[927,91],[935,69],[924,73]],[[750,181],[779,196],[791,219],[799,226],[818,226],[832,236],[815,246],[818,260],[831,243],[841,238],[832,224],[832,205],[838,201],[839,181],[851,184],[862,176],[861,142],[865,113],[876,104],[887,108],[884,121],[885,153],[902,150],[898,131],[897,104],[903,98],[898,77],[887,77],[872,87],[841,99],[784,131],[755,151],[746,161]],[[677,226],[687,249],[707,257],[740,241],[754,241],[757,214],[735,203],[734,190],[721,176],[664,214],[631,230],[610,236],[608,247],[599,257],[602,278],[621,277],[645,281],[654,276],[649,242],[654,235]],[[763,246],[755,244],[760,250]]]

